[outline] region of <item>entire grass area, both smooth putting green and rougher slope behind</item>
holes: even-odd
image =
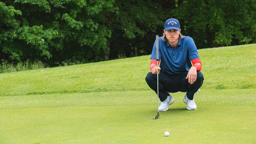
[[[2,73],[0,143],[256,143],[256,44],[198,52],[198,109],[177,92],[157,120],[149,55]]]

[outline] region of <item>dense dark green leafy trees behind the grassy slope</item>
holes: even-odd
[[[1,0],[0,59],[55,66],[149,55],[172,17],[198,49],[256,43],[256,0]]]

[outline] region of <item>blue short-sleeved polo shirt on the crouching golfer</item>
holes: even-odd
[[[170,75],[188,72],[191,68],[191,60],[199,58],[195,42],[191,37],[183,36],[179,39],[176,47],[172,47],[168,40],[163,41],[159,37],[159,60],[160,68]],[[156,59],[156,41],[154,42],[151,59]]]

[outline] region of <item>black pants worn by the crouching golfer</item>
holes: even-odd
[[[195,92],[202,86],[204,81],[204,76],[202,72],[197,72],[197,78],[194,84],[190,84],[188,79],[185,79],[188,72],[169,75],[163,72],[158,74],[158,89],[160,101],[164,101],[168,93],[167,92],[186,92],[187,97],[192,100],[194,98]],[[153,89],[157,94],[157,74],[152,74],[148,72],[146,76],[146,82],[148,86]]]

